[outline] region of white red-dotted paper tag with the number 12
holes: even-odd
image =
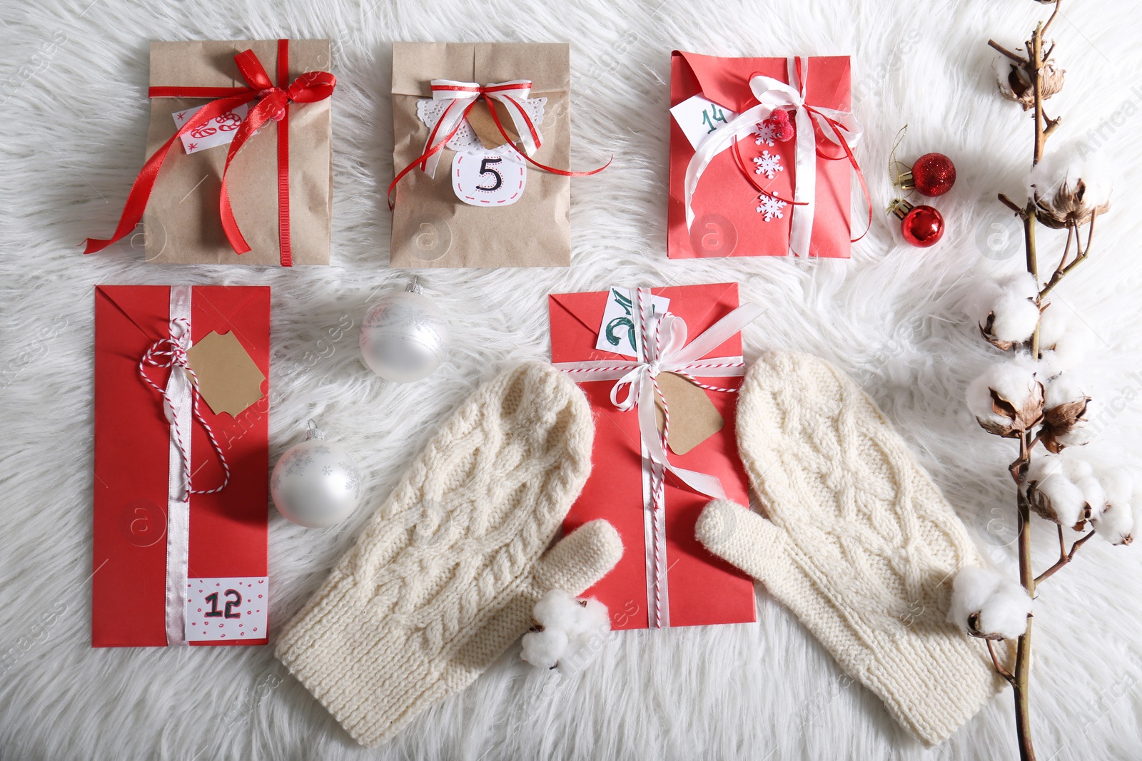
[[[186,580],[186,641],[265,639],[270,581],[265,576]]]

